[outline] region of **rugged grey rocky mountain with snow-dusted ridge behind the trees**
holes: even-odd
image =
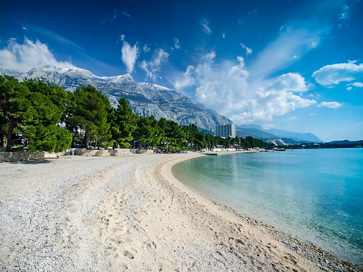
[[[204,107],[180,92],[151,83],[138,83],[130,74],[114,77],[98,77],[88,70],[78,67],[40,66],[26,73],[14,73],[0,67],[0,74],[8,74],[20,80],[24,78],[44,78],[66,90],[74,91],[77,87],[93,85],[106,95],[113,107],[125,97],[132,110],[140,116],[154,115],[174,120],[180,125],[196,124],[197,127],[214,131],[218,124],[229,124],[231,120]]]

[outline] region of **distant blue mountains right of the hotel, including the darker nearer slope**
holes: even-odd
[[[313,133],[298,133],[276,128],[264,129],[260,125],[254,124],[236,125],[236,134],[242,137],[250,135],[262,140],[282,139],[287,144],[323,143]]]

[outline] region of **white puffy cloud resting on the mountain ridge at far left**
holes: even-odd
[[[0,50],[0,66],[5,69],[24,73],[40,65],[72,66],[69,62],[56,61],[48,45],[27,37],[24,37],[23,44],[11,38],[7,47]]]

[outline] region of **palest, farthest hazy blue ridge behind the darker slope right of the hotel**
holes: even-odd
[[[274,137],[271,137],[270,139],[276,139],[276,138],[287,138],[291,139],[297,142],[311,142],[311,143],[323,143],[322,140],[320,140],[316,135],[313,133],[298,133],[298,132],[291,132],[284,129],[277,129],[277,128],[270,128],[270,129],[264,129],[260,125],[254,125],[254,124],[244,124],[244,125],[237,125],[236,127],[240,129],[258,129],[262,132],[270,133]],[[286,143],[286,141],[285,141]]]

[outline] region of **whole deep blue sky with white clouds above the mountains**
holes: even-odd
[[[5,0],[0,66],[130,73],[137,82],[180,91],[237,125],[358,140],[362,14],[362,0]]]

